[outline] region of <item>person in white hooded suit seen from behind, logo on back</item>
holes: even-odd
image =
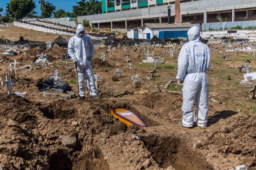
[[[178,57],[178,84],[183,84],[182,122],[180,126],[206,128],[208,114],[209,84],[206,71],[209,69],[211,53],[207,45],[201,43],[200,30],[193,26],[188,30],[189,43],[183,45]],[[196,118],[194,119],[194,102]]]

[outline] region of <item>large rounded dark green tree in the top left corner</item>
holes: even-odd
[[[6,6],[6,12],[14,19],[25,17],[36,8],[33,0],[10,0]]]

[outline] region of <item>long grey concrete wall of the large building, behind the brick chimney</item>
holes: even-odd
[[[175,4],[117,11],[105,14],[80,16],[78,21],[84,19],[91,23],[106,23],[111,21],[138,20],[145,18],[167,17],[167,6],[171,6],[171,16],[174,16]],[[255,0],[198,0],[180,4],[181,15],[207,13],[214,11],[233,10],[256,7]]]

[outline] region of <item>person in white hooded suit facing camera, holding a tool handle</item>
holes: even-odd
[[[85,77],[90,95],[95,98],[97,93],[92,73],[92,65],[90,63],[94,55],[94,45],[92,39],[88,35],[85,35],[85,27],[83,27],[82,24],[78,24],[76,35],[69,40],[68,54],[73,63],[77,64],[80,99],[85,98]]]

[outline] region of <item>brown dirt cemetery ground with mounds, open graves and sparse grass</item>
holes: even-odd
[[[232,44],[233,45],[233,44]],[[242,47],[242,45],[237,45]],[[181,86],[172,82],[163,86],[167,77],[177,75],[178,55],[163,54],[162,46],[149,47],[155,57],[164,58],[157,64],[155,80],[148,80],[154,64],[142,63],[147,47],[95,48],[92,67],[104,81],[98,82],[99,98],[55,99],[43,97],[37,84],[49,78],[56,69],[77,92],[75,69],[71,59],[62,61],[66,49],[34,48],[13,57],[0,57],[1,81],[6,75],[15,79],[14,71],[6,68],[16,59],[17,67],[32,65],[37,54],[46,52],[50,64],[32,70],[18,69],[13,92],[27,92],[24,98],[7,94],[0,86],[0,163],[3,169],[232,169],[244,164],[256,169],[256,100],[251,99],[253,87],[240,85],[244,79],[237,68],[252,58],[250,72],[256,71],[253,52],[224,52],[227,45],[213,45],[209,79],[209,115],[206,129],[194,126],[181,128]],[[219,53],[214,52],[214,49]],[[131,49],[137,48],[137,51]],[[144,50],[145,48],[145,50]],[[166,51],[173,47],[164,47]],[[181,45],[175,47],[178,54]],[[105,62],[101,58],[105,52]],[[126,61],[131,60],[131,69]],[[230,55],[227,61],[224,53]],[[141,55],[138,58],[138,55]],[[112,56],[110,56],[112,55]],[[123,71],[119,81],[114,72]],[[141,81],[133,85],[132,76]],[[141,93],[134,93],[141,91]],[[162,91],[162,92],[161,92]],[[53,92],[52,90],[46,92]],[[109,112],[127,108],[137,113],[147,128],[127,126]],[[134,135],[134,136],[133,136]]]

